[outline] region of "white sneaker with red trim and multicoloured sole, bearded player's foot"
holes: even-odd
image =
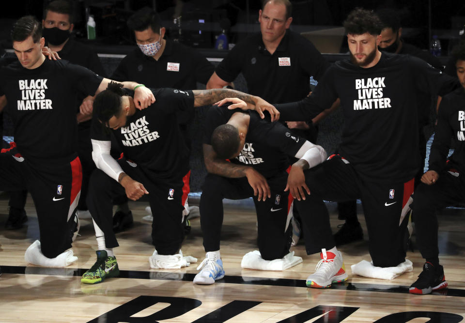
[[[348,276],[340,251],[336,251],[334,254],[326,252],[326,249],[321,249],[320,257],[321,260],[316,265],[315,273],[307,277],[307,287],[328,288],[331,287],[332,283],[347,280]]]

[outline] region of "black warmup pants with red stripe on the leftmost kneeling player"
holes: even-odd
[[[0,154],[0,190],[27,189],[39,221],[40,244],[44,256],[55,258],[71,248],[71,224],[82,181],[81,163],[47,160],[30,163],[20,154]]]

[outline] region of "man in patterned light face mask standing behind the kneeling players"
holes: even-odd
[[[142,8],[127,20],[127,26],[134,31],[137,48],[134,48],[118,65],[112,78],[115,80],[132,79],[154,89],[174,88],[179,90],[197,89],[197,83],[206,84],[214,72],[212,63],[198,51],[180,43],[165,39],[166,29],[161,19],[150,8]],[[178,122],[187,148],[190,150],[191,138],[188,133],[189,123],[194,117],[193,110],[178,111]],[[186,175],[186,186],[189,192],[190,172]],[[116,198],[118,209],[113,217],[115,231],[123,231],[131,226],[132,213],[123,196]],[[198,207],[185,201],[185,215],[192,218],[199,215]],[[150,210],[150,211],[149,211]],[[152,210],[146,208],[149,215],[144,220],[153,220]]]

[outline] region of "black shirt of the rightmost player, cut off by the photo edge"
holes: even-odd
[[[439,172],[445,168],[451,141],[454,143],[454,153],[449,158],[447,169],[465,172],[465,90],[463,87],[444,96],[439,105],[429,169]]]

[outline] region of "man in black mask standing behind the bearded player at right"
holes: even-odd
[[[382,23],[381,41],[378,45],[378,49],[381,52],[412,55],[422,59],[434,68],[442,70],[441,62],[428,51],[403,41],[401,19],[397,11],[393,9],[381,9],[376,12],[376,15],[378,15]],[[416,92],[416,96],[418,107],[418,143],[422,167],[418,169],[418,173],[415,176],[415,186],[420,183],[426,158],[426,142],[428,138],[425,138],[423,128],[430,123],[431,110],[434,109],[437,99],[437,95],[433,93]],[[363,237],[363,233],[357,219],[356,201],[338,203],[338,209],[341,218],[345,219],[345,223],[334,234],[336,245],[340,246],[360,240]]]

